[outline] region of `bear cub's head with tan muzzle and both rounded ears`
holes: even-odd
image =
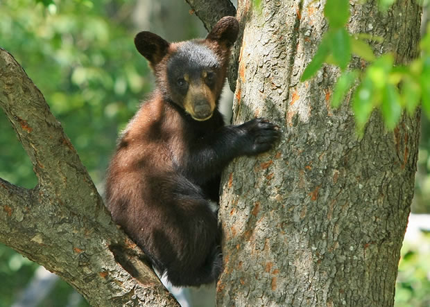
[[[149,61],[164,98],[196,121],[206,121],[221,96],[230,47],[238,32],[236,18],[227,16],[216,23],[205,40],[169,43],[144,31],[136,35],[135,45]]]

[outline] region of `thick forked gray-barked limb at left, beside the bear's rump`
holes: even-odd
[[[175,306],[135,243],[110,218],[39,89],[0,49],[0,107],[38,178],[0,179],[0,242],[70,283],[92,306]]]

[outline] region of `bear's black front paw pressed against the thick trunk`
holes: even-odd
[[[246,146],[243,151],[245,155],[258,155],[272,148],[279,139],[279,127],[266,119],[252,119],[240,126],[246,134]]]

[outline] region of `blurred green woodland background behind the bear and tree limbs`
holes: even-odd
[[[14,55],[42,91],[101,192],[117,135],[153,87],[146,60],[132,39],[139,30],[170,41],[204,37],[205,29],[189,10],[183,0],[0,0],[0,47]],[[420,144],[413,211],[430,213],[426,119]],[[4,114],[0,177],[26,188],[37,183]],[[397,306],[430,306],[429,246],[430,236],[404,245]],[[23,299],[28,284],[37,280],[37,267],[0,245],[0,307]],[[56,279],[51,286],[42,301],[25,306],[87,306],[64,281]]]

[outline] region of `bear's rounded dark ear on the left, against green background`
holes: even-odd
[[[157,64],[164,58],[169,45],[169,42],[166,42],[162,37],[148,31],[137,33],[135,37],[137,51],[152,65]]]

